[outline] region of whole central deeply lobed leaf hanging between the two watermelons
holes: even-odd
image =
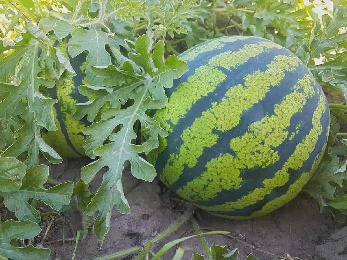
[[[158,42],[152,54],[150,37],[146,34],[140,36],[135,43],[135,50],[129,53],[130,61],[126,61],[122,69],[113,65],[95,68],[94,71],[103,78],[107,87],[81,87],[83,94],[96,94],[97,98],[76,105],[78,118],[82,118],[88,112],[88,120],[93,120],[106,100],[115,105],[102,111],[101,121],[83,130],[88,136],[83,145],[86,154],[92,158],[100,156],[100,159],[82,168],[83,181],[91,182],[102,167],[109,167],[100,189],[86,208],[89,215],[99,211],[94,224],[94,233],[99,241],[104,240],[107,218],[115,205],[121,213],[126,214],[130,211],[121,184],[124,163],[131,163],[132,174],[138,179],[152,181],[156,175],[154,166],[138,154],[148,154],[152,149],[158,148],[158,135],[166,137],[167,132],[153,117],[148,116],[146,111],[163,108],[164,102],[167,102],[164,87],[172,87],[173,79],[179,78],[187,70],[186,63],[174,55],[164,61],[163,47],[163,42]],[[120,104],[124,104],[128,98],[134,103],[126,109],[121,109]],[[89,110],[85,109],[85,106],[88,106]],[[79,109],[80,107],[82,109]],[[136,121],[141,123],[141,129],[147,129],[147,141],[142,145],[133,144],[137,137],[133,130]],[[122,125],[121,130],[113,133],[119,125]],[[111,142],[103,145],[107,139]]]

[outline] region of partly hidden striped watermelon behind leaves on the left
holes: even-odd
[[[58,47],[65,54],[65,57],[69,58],[77,76],[62,83],[57,81],[56,87],[48,90],[49,96],[58,100],[58,103],[54,104],[53,111],[58,130],[54,132],[44,131],[42,137],[62,157],[83,157],[86,156],[82,146],[86,137],[83,135],[82,129],[90,125],[91,122],[85,118],[75,119],[73,113],[75,111],[74,104],[88,101],[88,98],[78,91],[79,85],[89,83],[84,73],[86,55],[81,53],[75,58],[71,58],[67,54],[67,39],[61,43],[56,42],[54,46]]]

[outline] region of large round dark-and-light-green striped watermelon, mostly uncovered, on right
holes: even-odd
[[[320,85],[289,50],[226,36],[182,53],[189,71],[154,118],[169,132],[149,154],[181,197],[225,218],[268,214],[318,166],[329,132]]]

